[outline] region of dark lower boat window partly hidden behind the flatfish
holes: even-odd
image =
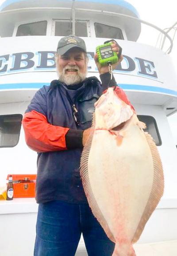
[[[155,121],[155,118],[149,115],[138,115],[139,121],[142,121],[146,124],[147,128],[144,129],[145,132],[148,132],[155,141],[156,146],[162,145],[162,140],[158,131],[158,126]]]

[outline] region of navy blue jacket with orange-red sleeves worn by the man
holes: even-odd
[[[103,76],[104,82],[109,80],[107,75]],[[53,200],[87,203],[79,170],[82,133],[92,124],[94,103],[106,84],[101,86],[96,77],[70,87],[54,80],[50,86],[38,90],[31,100],[23,118],[23,128],[27,145],[38,152],[37,203]],[[120,88],[117,90],[130,104],[124,92]]]

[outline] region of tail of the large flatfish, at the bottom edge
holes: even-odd
[[[112,256],[136,256],[136,254],[132,244],[116,243]]]

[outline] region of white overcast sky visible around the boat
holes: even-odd
[[[0,0],[0,4],[3,2],[4,0]],[[177,0],[127,0],[127,2],[137,9],[140,19],[150,22],[161,29],[169,28],[177,22]],[[174,30],[172,30],[169,35],[172,37],[173,33]],[[173,50],[170,55],[177,71],[177,35],[174,38]],[[177,114],[173,114],[169,117],[169,123],[177,144]]]

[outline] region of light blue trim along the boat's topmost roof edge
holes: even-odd
[[[0,5],[0,11],[2,11],[4,8],[6,8],[10,4],[14,4],[14,3],[17,3],[17,2],[23,2],[23,1],[29,1],[29,0],[6,0],[3,4]],[[72,0],[67,0],[67,1],[72,1]],[[130,10],[131,12],[133,12],[137,16],[137,18],[139,18],[139,13],[135,9],[135,7],[133,7],[133,5],[127,3],[124,0],[76,0],[76,2],[77,1],[78,2],[92,2],[92,3],[100,3],[100,4],[119,5],[123,8],[126,8],[126,9]]]

